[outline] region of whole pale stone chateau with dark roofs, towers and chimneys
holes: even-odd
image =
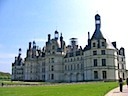
[[[55,31],[48,34],[45,47],[39,49],[35,41],[29,42],[26,57],[15,57],[12,63],[13,81],[80,82],[126,79],[125,49],[107,40],[101,30],[100,15],[95,15],[95,31],[84,48],[71,38],[66,46],[63,36]]]

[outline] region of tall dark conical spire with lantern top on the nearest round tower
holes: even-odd
[[[101,27],[101,20],[100,20],[100,15],[96,14],[95,15],[95,32],[91,38],[92,39],[104,39],[101,31],[100,31],[100,27]]]

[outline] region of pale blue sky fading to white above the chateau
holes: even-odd
[[[127,0],[0,0],[0,71],[11,73],[18,49],[26,56],[28,42],[44,47],[47,35],[57,29],[66,45],[72,37],[87,44],[95,30],[94,16],[101,15],[101,31],[117,47],[127,49]]]

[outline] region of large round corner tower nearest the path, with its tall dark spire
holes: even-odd
[[[84,79],[118,80],[117,50],[101,32],[101,17],[95,15],[95,30],[84,51]],[[116,45],[116,44],[115,44]]]

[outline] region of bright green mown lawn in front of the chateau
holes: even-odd
[[[0,87],[0,96],[104,96],[117,82]]]

